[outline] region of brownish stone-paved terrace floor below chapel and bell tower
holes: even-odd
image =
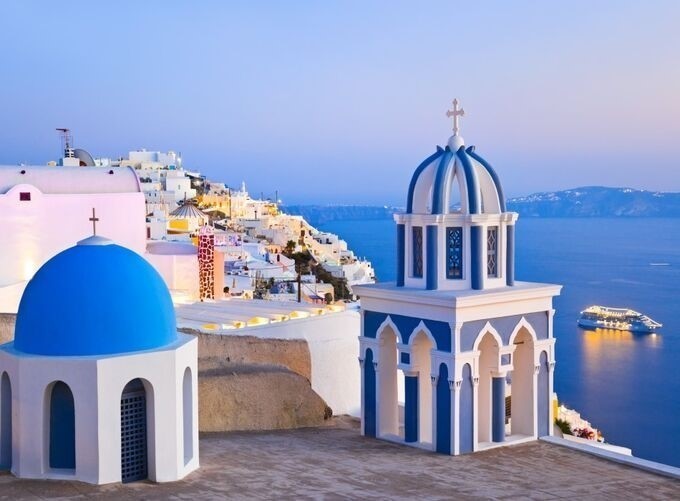
[[[459,457],[363,438],[356,424],[201,438],[172,484],[91,486],[0,475],[2,499],[680,499],[680,482],[543,442]]]

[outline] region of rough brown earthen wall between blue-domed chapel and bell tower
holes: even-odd
[[[318,426],[333,414],[312,390],[306,341],[180,331],[198,338],[200,431]]]

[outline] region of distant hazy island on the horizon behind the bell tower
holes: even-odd
[[[524,217],[680,217],[680,193],[586,186],[510,198],[508,210]],[[285,205],[314,226],[338,220],[389,219],[402,207]]]

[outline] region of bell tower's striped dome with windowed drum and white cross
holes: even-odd
[[[500,179],[465,146],[457,99],[453,135],[413,173],[406,212],[396,214],[397,286],[485,290],[512,286],[517,214],[507,212]]]

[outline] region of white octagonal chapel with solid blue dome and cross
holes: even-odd
[[[94,233],[32,276],[0,346],[0,466],[93,484],[181,479],[199,466],[197,340],[177,332],[154,267]]]

